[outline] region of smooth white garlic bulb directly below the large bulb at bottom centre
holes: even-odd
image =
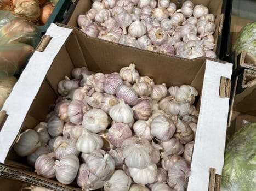
[[[150,184],[155,182],[157,175],[157,166],[155,163],[149,163],[144,169],[129,167],[130,176],[137,184]]]

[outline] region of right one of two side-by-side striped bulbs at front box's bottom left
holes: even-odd
[[[60,160],[56,160],[53,168],[56,169],[56,179],[60,183],[70,184],[76,178],[79,169],[79,159],[74,154],[68,154]]]

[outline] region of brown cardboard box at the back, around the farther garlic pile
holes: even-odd
[[[229,17],[225,16],[225,9],[226,9],[226,0],[191,0],[194,5],[203,4],[209,9],[209,13],[212,13],[215,15],[215,33],[214,33],[214,39],[215,39],[215,46],[213,51],[216,52],[217,58],[219,58],[220,55],[220,46],[221,46],[221,39],[222,39],[222,28],[223,28],[223,22],[225,20],[229,20]],[[170,2],[174,2],[177,4],[177,9],[181,7],[180,2],[184,1],[178,1],[178,0],[171,0]],[[85,0],[85,1],[79,1],[77,3],[77,6],[75,10],[73,11],[72,16],[70,17],[69,22],[67,25],[78,27],[77,26],[77,17],[80,14],[85,14],[90,8],[92,7],[92,1]]]

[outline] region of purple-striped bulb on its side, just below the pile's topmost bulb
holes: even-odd
[[[126,85],[117,87],[115,94],[118,99],[123,99],[128,105],[135,105],[138,102],[138,94]]]

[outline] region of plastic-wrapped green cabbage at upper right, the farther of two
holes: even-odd
[[[256,57],[256,22],[248,23],[241,29],[232,50],[250,52]]]

